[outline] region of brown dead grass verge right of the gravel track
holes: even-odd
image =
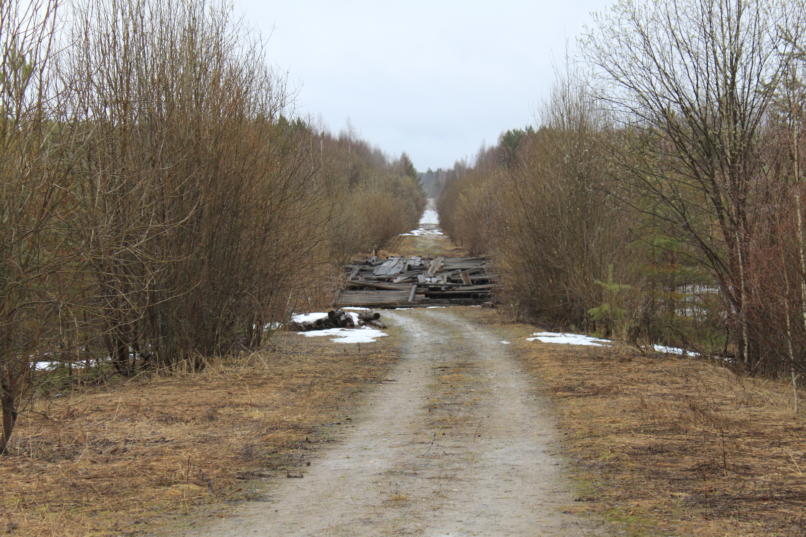
[[[535,327],[463,310],[510,339],[555,402],[578,510],[617,535],[806,534],[806,419],[786,381],[626,346],[530,343]]]

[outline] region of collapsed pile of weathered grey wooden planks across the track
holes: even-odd
[[[388,257],[344,265],[336,306],[411,306],[488,300],[496,276],[488,257]],[[448,303],[450,303],[448,302]]]

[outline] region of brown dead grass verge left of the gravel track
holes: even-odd
[[[393,339],[282,334],[278,350],[201,374],[40,401],[0,460],[0,535],[134,535],[226,514],[258,497],[251,479],[305,472],[349,427],[359,392],[397,359]]]

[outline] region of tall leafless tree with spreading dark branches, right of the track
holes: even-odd
[[[762,127],[784,74],[792,6],[766,0],[617,3],[582,40],[632,150],[629,185],[719,283],[737,353],[762,360],[750,326],[750,243],[762,192]],[[619,156],[620,155],[620,156]]]

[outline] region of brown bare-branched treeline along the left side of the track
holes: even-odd
[[[258,348],[334,263],[416,227],[408,157],[293,119],[229,13],[0,0],[0,452],[36,362],[131,376]]]

